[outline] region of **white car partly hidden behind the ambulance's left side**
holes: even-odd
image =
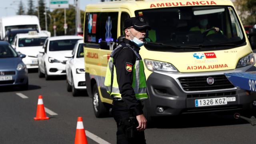
[[[72,53],[65,56],[66,62],[66,86],[73,96],[79,94],[79,90],[86,90],[84,69],[84,40],[78,40]]]

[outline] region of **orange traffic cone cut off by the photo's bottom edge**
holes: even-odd
[[[82,117],[77,119],[75,144],[88,144]]]

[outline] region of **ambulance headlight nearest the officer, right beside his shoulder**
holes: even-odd
[[[150,71],[161,70],[166,72],[178,72],[178,70],[168,62],[144,59],[145,65]]]

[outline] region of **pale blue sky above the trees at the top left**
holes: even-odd
[[[0,0],[0,18],[3,16],[14,16],[18,11],[18,5],[22,1],[25,9],[28,9],[28,0]],[[37,0],[33,0],[37,6]],[[49,7],[50,0],[45,0],[47,7]],[[80,0],[80,9],[84,10],[87,4],[97,3],[100,0]],[[69,0],[69,4],[74,4],[74,0]]]

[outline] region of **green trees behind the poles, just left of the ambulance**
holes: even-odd
[[[81,13],[81,24],[82,28],[84,26],[84,11],[80,11]],[[57,26],[56,28],[56,35],[61,36],[64,35],[64,9],[56,9],[50,13],[52,15],[52,18],[56,18],[56,23],[55,25]],[[76,10],[75,7],[72,5],[69,5],[69,8],[66,9],[66,22],[68,24],[68,29],[67,29],[67,35],[74,35],[76,32]],[[50,26],[49,26],[49,31],[53,35],[53,26],[54,22],[51,20]]]

